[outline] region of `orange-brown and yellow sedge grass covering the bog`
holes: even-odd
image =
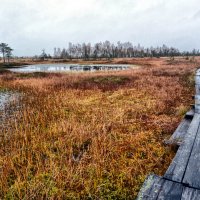
[[[198,62],[137,62],[144,67],[1,75],[1,88],[23,95],[0,126],[0,198],[135,199],[149,173],[163,175],[175,154],[163,140],[192,103]]]

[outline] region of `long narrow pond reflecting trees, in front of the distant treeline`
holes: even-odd
[[[10,69],[13,72],[70,72],[70,71],[101,71],[126,70],[128,65],[78,65],[78,64],[37,64]]]

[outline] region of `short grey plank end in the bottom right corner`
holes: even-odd
[[[200,190],[184,187],[181,200],[199,200]]]

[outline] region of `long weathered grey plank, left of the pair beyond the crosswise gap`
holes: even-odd
[[[176,182],[182,182],[186,166],[194,145],[194,140],[199,128],[199,122],[200,114],[195,113],[194,118],[185,136],[185,140],[180,145],[171,165],[164,175],[166,179]]]

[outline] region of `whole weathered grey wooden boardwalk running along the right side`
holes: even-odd
[[[138,200],[200,200],[200,70],[195,78],[195,107],[165,141],[178,151],[163,177],[147,177]]]

